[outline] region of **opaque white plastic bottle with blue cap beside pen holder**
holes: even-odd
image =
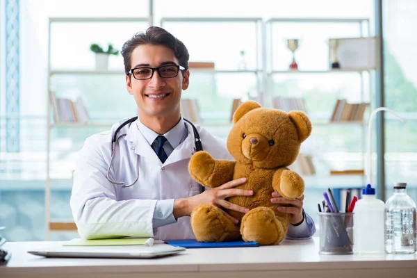
[[[384,202],[375,197],[375,188],[368,184],[362,189],[353,210],[354,253],[384,253],[384,208]]]

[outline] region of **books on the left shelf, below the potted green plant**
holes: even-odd
[[[81,97],[75,101],[67,98],[58,98],[54,92],[50,92],[51,104],[54,109],[54,120],[58,122],[81,122],[90,121],[90,116],[85,108]]]

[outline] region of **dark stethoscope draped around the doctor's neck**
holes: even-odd
[[[115,157],[115,145],[116,145],[116,142],[120,138],[126,136],[126,134],[122,134],[122,135],[120,135],[120,136],[117,137],[117,133],[119,133],[120,129],[122,129],[124,126],[126,126],[126,124],[131,124],[132,122],[135,122],[136,120],[138,120],[138,116],[132,117],[131,119],[126,120],[126,122],[123,122],[122,124],[120,124],[120,126],[117,127],[117,129],[115,130],[115,133],[113,133],[113,136],[111,138],[111,159],[110,159],[110,163],[108,164],[106,178],[111,183],[122,186],[122,188],[126,188],[126,187],[133,186],[133,184],[135,184],[136,181],[138,181],[138,179],[139,179],[139,156],[136,159],[136,169],[137,169],[138,174],[136,175],[136,179],[132,183],[126,184],[126,183],[124,183],[124,181],[113,181],[113,179],[111,179],[111,177],[110,177],[110,168],[111,168],[111,163],[113,163],[113,158]],[[186,120],[186,119],[183,119],[183,120],[186,121],[186,122],[188,122],[188,124],[190,124],[193,127],[194,138],[195,138],[195,149],[196,149],[196,151],[197,152],[202,151],[203,150],[202,140],[199,137],[199,133],[197,131],[197,128],[189,120]],[[201,192],[203,192],[204,191],[204,186],[202,186],[200,184],[200,188],[201,188],[200,189]]]

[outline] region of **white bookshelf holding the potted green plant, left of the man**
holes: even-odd
[[[89,79],[91,76],[94,78],[98,78],[101,80],[108,79],[109,76],[115,76],[115,78],[119,78],[120,80],[124,80],[124,70],[122,69],[122,65],[120,67],[120,70],[118,69],[112,69],[109,70],[95,70],[95,68],[72,68],[72,67],[63,67],[63,68],[54,68],[52,66],[53,63],[53,57],[51,55],[52,51],[52,45],[54,42],[56,42],[56,37],[54,36],[54,32],[52,32],[54,29],[54,26],[60,26],[59,24],[67,24],[68,26],[80,26],[80,24],[104,24],[104,26],[109,26],[108,24],[116,24],[117,26],[120,26],[120,24],[132,24],[132,26],[136,26],[135,28],[138,28],[140,24],[143,26],[149,26],[151,21],[151,17],[50,17],[49,18],[49,38],[48,38],[48,80],[47,80],[47,159],[46,159],[46,183],[44,188],[44,199],[45,199],[45,223],[46,223],[46,238],[47,240],[51,236],[51,232],[68,232],[68,231],[76,231],[76,226],[72,220],[68,221],[67,219],[52,219],[51,218],[51,185],[54,183],[54,190],[67,190],[67,183],[68,181],[72,181],[72,177],[54,177],[53,173],[51,173],[51,163],[53,162],[52,156],[52,146],[56,145],[56,142],[54,142],[54,137],[51,136],[51,133],[54,131],[62,131],[65,132],[66,136],[74,137],[77,133],[74,131],[74,129],[79,129],[80,132],[92,134],[97,133],[98,131],[108,130],[111,128],[111,126],[114,124],[115,121],[104,122],[102,120],[97,121],[94,120],[92,117],[90,117],[88,111],[88,107],[85,108],[83,100],[84,97],[88,97],[90,92],[85,91],[77,91],[74,95],[68,96],[60,96],[59,92],[56,92],[56,88],[52,88],[52,79],[56,78],[57,76],[71,76],[71,78],[74,78],[76,76],[77,78],[83,76],[85,79]],[[57,25],[56,25],[57,24]],[[95,26],[95,25],[94,25]],[[122,25],[126,26],[126,25]],[[110,35],[110,34],[109,34]],[[77,41],[79,38],[68,38],[68,40]],[[88,49],[90,45],[85,45],[85,47]],[[93,54],[92,54],[93,55]],[[76,65],[76,61],[74,61],[74,65]],[[73,65],[72,65],[73,66]],[[72,79],[70,79],[71,81]],[[67,80],[66,80],[67,81]],[[67,81],[67,82],[70,82]],[[92,82],[92,81],[90,81]],[[59,88],[61,85],[60,83],[55,84],[56,87]],[[105,92],[108,99],[113,99],[114,97],[117,97],[117,93],[120,92]],[[113,95],[110,95],[112,94]],[[65,107],[63,102],[62,106],[58,105],[58,102],[60,100],[65,99],[65,105],[70,105],[70,107]],[[83,108],[76,107],[76,99],[79,99],[79,105],[83,106]],[[72,104],[71,104],[72,103]],[[111,101],[109,101],[109,114],[111,114]],[[65,113],[67,115],[63,117],[63,110],[65,110]],[[80,115],[77,115],[76,111],[84,110],[84,115],[81,117]],[[131,111],[132,113],[136,113],[135,111]],[[72,115],[70,115],[72,113]],[[68,117],[70,115],[70,117]],[[79,117],[77,117],[79,116]],[[129,116],[129,115],[126,115]],[[120,117],[117,117],[117,120],[120,120]],[[71,153],[74,155],[73,153]],[[56,156],[56,154],[54,154]],[[68,167],[66,165],[66,167]],[[74,169],[68,169],[67,172],[72,172]],[[59,184],[57,182],[60,182]],[[65,184],[65,186],[62,186],[62,184]],[[71,183],[71,182],[70,182]]]

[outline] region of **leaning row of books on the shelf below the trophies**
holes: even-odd
[[[332,122],[344,122],[344,121],[361,121],[365,114],[366,103],[349,104],[346,99],[338,99],[334,106]]]

